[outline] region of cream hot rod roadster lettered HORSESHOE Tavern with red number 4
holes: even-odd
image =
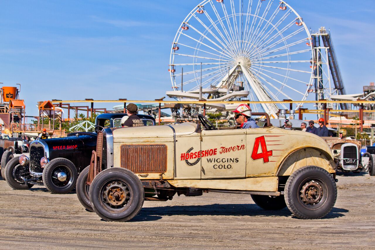
[[[78,198],[107,221],[132,219],[144,200],[203,192],[251,194],[263,209],[287,206],[303,219],[327,215],[337,196],[327,143],[253,115],[266,116],[264,126],[218,130],[199,115],[198,124],[106,128],[78,178]]]

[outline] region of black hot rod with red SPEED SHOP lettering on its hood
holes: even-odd
[[[73,190],[78,174],[90,164],[92,151],[96,150],[98,131],[105,127],[121,127],[122,113],[100,114],[95,120],[95,132],[76,132],[67,137],[35,140],[30,144],[30,157],[13,157],[6,164],[5,179],[14,189],[28,189],[33,185],[45,185],[55,194]],[[145,126],[155,125],[152,116],[138,115]]]

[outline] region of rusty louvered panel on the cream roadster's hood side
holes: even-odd
[[[121,145],[121,167],[134,173],[163,173],[166,171],[164,144]]]

